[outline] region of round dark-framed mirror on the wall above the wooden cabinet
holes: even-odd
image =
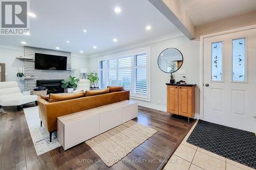
[[[183,56],[181,52],[176,48],[167,48],[158,57],[159,68],[166,73],[172,73],[177,71],[182,63]]]

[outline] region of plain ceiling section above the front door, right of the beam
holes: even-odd
[[[180,0],[196,26],[252,12],[256,0]]]

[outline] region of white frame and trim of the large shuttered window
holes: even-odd
[[[140,68],[141,66],[135,66],[134,63],[134,56],[139,55],[139,54],[146,54],[146,66],[143,68],[146,68],[146,95],[141,95],[141,94],[136,94],[134,92],[135,84],[134,84],[134,72],[135,68]],[[107,60],[109,59],[116,59],[117,60],[117,80],[118,80],[118,59],[119,58],[124,58],[124,57],[132,57],[132,66],[131,66],[131,91],[130,91],[130,98],[135,99],[135,100],[141,100],[141,101],[146,101],[146,102],[151,102],[151,48],[148,47],[143,47],[143,48],[138,48],[136,50],[129,50],[125,52],[120,52],[120,53],[112,53],[110,55],[105,55],[103,57],[98,57],[98,73],[100,73],[99,69],[99,62],[102,60],[105,60],[105,82],[104,84],[106,86],[109,85],[109,80],[108,80],[108,64]],[[142,68],[141,67],[141,68]],[[100,83],[99,83],[100,84]]]

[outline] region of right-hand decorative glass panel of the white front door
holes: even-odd
[[[245,81],[245,38],[234,39],[232,52],[232,81]]]

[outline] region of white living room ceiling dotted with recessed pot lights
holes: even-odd
[[[120,14],[114,12],[117,6]],[[87,56],[166,34],[183,35],[147,0],[32,0],[30,11],[36,15],[30,19],[30,35],[0,36],[0,46],[22,47],[25,41],[28,46],[58,46],[60,51],[83,51]],[[146,31],[147,25],[152,30]]]

